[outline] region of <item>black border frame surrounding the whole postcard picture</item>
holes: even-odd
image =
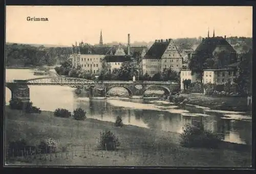
[[[96,1],[96,0],[92,0],[92,1],[82,1],[82,0],[73,0],[73,1],[50,1],[50,0],[27,0],[26,2],[20,2],[19,0],[6,0],[5,3],[3,3],[3,1],[0,2],[1,5],[3,4],[2,10],[0,10],[3,15],[0,16],[4,16],[2,18],[3,21],[3,25],[4,27],[1,27],[1,31],[3,31],[2,34],[2,38],[5,38],[5,5],[61,5],[61,6],[77,6],[77,5],[87,5],[87,6],[91,6],[91,5],[117,5],[117,6],[121,6],[121,5],[125,5],[125,6],[136,6],[136,5],[140,5],[140,6],[254,6],[256,4],[256,2],[253,1],[238,1],[238,0],[231,0],[231,1],[217,1],[217,0],[213,0],[213,1],[191,1],[191,0],[183,0],[183,1],[177,1],[177,2],[167,2],[167,1],[141,1],[141,0],[137,0],[136,3],[132,3],[131,1],[129,3],[124,3],[121,1],[108,1],[108,3],[106,3],[106,1]],[[253,7],[253,19],[255,19],[255,10]],[[254,23],[253,23],[253,28],[254,28]],[[254,30],[253,30],[253,36],[254,36]],[[254,45],[254,37],[253,38],[253,45]],[[3,73],[4,78],[3,79],[3,83],[5,84],[5,39],[2,39],[3,42],[1,42],[1,52],[3,55],[1,61],[1,65],[2,65],[2,71],[1,73]],[[255,59],[255,54],[253,52],[253,57]],[[255,63],[255,61],[253,61],[253,64]],[[252,64],[252,66],[253,66]],[[254,72],[254,69],[253,69]],[[254,73],[253,73],[254,74]],[[1,74],[2,75],[2,74]],[[254,83],[252,83],[253,87],[255,86]],[[254,89],[254,88],[253,88]],[[3,85],[3,93],[1,92],[1,97],[3,96],[3,99],[5,98],[4,96],[4,90],[5,90],[5,86]],[[253,94],[254,96],[254,94]],[[1,100],[1,102],[3,101],[3,103],[1,103],[1,111],[3,111],[3,115],[1,117],[1,124],[3,125],[4,123],[4,103],[5,100]],[[91,172],[126,172],[126,171],[131,171],[131,172],[149,172],[149,173],[155,173],[155,172],[196,172],[196,173],[201,173],[201,172],[220,172],[220,171],[225,171],[225,172],[253,172],[253,170],[255,170],[255,117],[253,116],[253,107],[254,106],[254,102],[252,102],[252,167],[251,168],[229,168],[229,167],[225,167],[225,168],[215,168],[215,167],[182,167],[182,168],[170,168],[170,167],[80,167],[80,166],[70,166],[67,167],[65,166],[63,167],[56,167],[56,166],[50,166],[50,167],[32,167],[32,166],[28,166],[28,167],[24,167],[24,166],[4,166],[4,159],[1,158],[1,162],[3,164],[3,171],[5,172],[48,172],[48,171],[59,171],[59,172],[84,172],[84,171],[91,171]],[[4,126],[0,126],[2,128],[1,133],[1,146],[3,146],[3,138],[4,138]],[[3,153],[4,147],[1,148],[1,152]],[[2,154],[1,153],[1,154]],[[4,154],[4,153],[3,153]],[[1,157],[3,157],[3,155],[1,155]],[[39,169],[39,170],[38,170]],[[2,169],[1,169],[2,170]],[[0,172],[1,172],[0,170]]]

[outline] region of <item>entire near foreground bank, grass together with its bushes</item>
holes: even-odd
[[[132,125],[117,127],[91,118],[75,120],[69,111],[56,111],[24,113],[6,106],[8,164],[250,165],[249,147],[221,142],[200,127],[187,125],[183,134],[178,134]],[[216,147],[202,143],[209,140]],[[17,153],[23,150],[12,155],[13,149]],[[31,149],[40,150],[31,153]]]

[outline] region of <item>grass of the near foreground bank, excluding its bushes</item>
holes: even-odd
[[[70,158],[61,154],[52,160],[9,161],[8,164],[30,165],[146,165],[146,166],[250,166],[250,151],[233,149],[185,148],[179,145],[179,134],[132,125],[115,127],[114,123],[87,118],[57,118],[52,112],[24,114],[6,108],[6,142],[25,138],[30,145],[49,136],[58,146],[74,152]],[[118,151],[99,151],[99,133],[109,129],[121,143]],[[8,145],[8,144],[7,144]],[[73,145],[70,150],[70,145]],[[84,147],[88,150],[84,150]],[[57,154],[58,155],[58,154]],[[62,158],[63,155],[63,158]],[[71,158],[72,156],[72,158]],[[65,157],[65,158],[64,158]]]

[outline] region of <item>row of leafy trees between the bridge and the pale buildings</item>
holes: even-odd
[[[92,72],[87,72],[82,70],[80,66],[72,67],[71,60],[67,60],[61,63],[60,67],[55,67],[55,71],[59,75],[65,75],[74,78],[84,78],[88,80],[95,80],[97,75],[97,80],[133,80],[135,76],[136,80],[142,81],[168,81],[175,80],[179,81],[180,76],[178,73],[174,72],[172,69],[164,69],[162,73],[157,73],[154,76],[150,76],[147,73],[142,74],[142,70],[139,68],[138,64],[134,61],[123,62],[120,69],[113,69],[107,63],[103,63],[102,69],[99,74],[93,74]]]

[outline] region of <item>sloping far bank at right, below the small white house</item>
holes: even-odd
[[[179,97],[187,99],[185,103],[209,107],[212,110],[225,110],[237,112],[250,112],[247,106],[247,98],[240,96],[213,97],[203,94],[180,94]]]

